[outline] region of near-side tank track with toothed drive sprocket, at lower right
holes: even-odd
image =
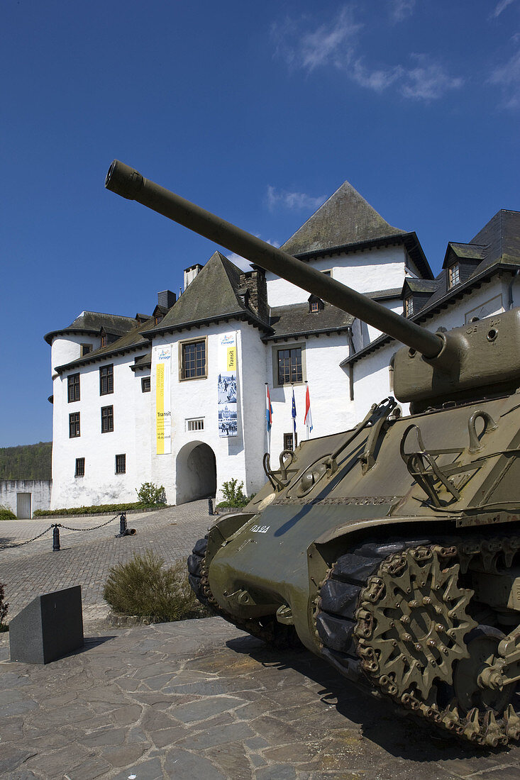
[[[481,745],[518,741],[520,718],[512,704],[500,713],[473,707],[459,714],[450,686],[465,636],[477,630],[466,612],[473,591],[458,587],[459,572],[471,566],[496,573],[497,564],[511,566],[519,550],[520,537],[500,536],[359,544],[320,583],[315,634],[322,655],[348,679],[390,697],[422,722]],[[428,633],[418,630],[417,615],[430,616],[422,624]]]

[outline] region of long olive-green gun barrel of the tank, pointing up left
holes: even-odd
[[[105,187],[128,200],[137,200],[158,214],[205,236],[240,257],[247,258],[261,268],[272,271],[308,293],[314,293],[338,309],[347,311],[348,314],[417,350],[430,360],[443,349],[443,339],[435,333],[426,331],[362,293],[316,271],[296,257],[265,243],[210,211],[205,211],[180,195],[144,179],[144,176],[130,165],[114,160],[107,173]]]

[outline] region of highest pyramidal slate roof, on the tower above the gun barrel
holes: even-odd
[[[406,235],[406,231],[389,225],[351,184],[344,182],[282,249],[302,254],[400,235]]]

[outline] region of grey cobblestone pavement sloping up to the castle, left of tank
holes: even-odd
[[[109,519],[109,518],[108,518]],[[119,519],[97,530],[63,531],[61,550],[52,551],[52,534],[24,544],[0,550],[0,582],[5,583],[5,601],[9,619],[26,606],[35,594],[81,585],[84,618],[106,614],[103,586],[111,566],[125,562],[135,552],[154,550],[167,562],[186,558],[195,541],[204,536],[214,518],[208,516],[208,502],[198,501],[159,512],[144,512],[127,517],[135,536],[117,539]],[[71,527],[92,528],[105,518],[52,519]],[[40,534],[48,520],[7,521],[0,523],[0,546],[13,544]]]

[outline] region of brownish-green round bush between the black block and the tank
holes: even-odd
[[[185,562],[165,568],[164,558],[150,550],[112,566],[103,597],[116,612],[152,623],[209,615],[191,590]]]

